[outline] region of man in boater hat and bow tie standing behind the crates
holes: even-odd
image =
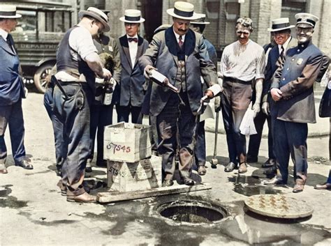
[[[126,35],[119,38],[119,54],[122,63],[119,104],[117,121],[128,122],[131,113],[132,123],[142,123],[141,107],[145,91],[145,77],[138,66],[138,59],[148,47],[148,42],[138,35],[140,23],[145,19],[140,17],[140,10],[125,10],[119,18],[124,22]]]

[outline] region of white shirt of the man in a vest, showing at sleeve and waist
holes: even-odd
[[[93,43],[91,33],[83,26],[78,25],[78,27],[71,31],[68,42],[69,46],[77,52],[71,51],[71,56],[73,56],[73,60],[75,61],[79,59],[85,61],[86,56],[98,52]],[[64,71],[57,72],[55,77],[63,82],[86,82],[84,75],[80,75],[80,79],[78,79]]]

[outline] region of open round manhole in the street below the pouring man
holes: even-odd
[[[168,219],[193,224],[220,222],[228,216],[225,208],[205,201],[169,201],[157,210]]]

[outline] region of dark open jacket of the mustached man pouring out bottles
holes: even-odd
[[[186,91],[188,94],[191,111],[196,114],[203,96],[203,86],[200,76],[207,86],[217,83],[216,68],[209,60],[207,47],[200,33],[189,30],[185,36],[185,71]],[[172,26],[165,31],[154,35],[145,54],[139,59],[139,66],[143,70],[147,65],[152,65],[165,75],[172,85],[175,85],[177,75],[177,40]],[[168,102],[172,91],[170,89],[152,84],[149,113],[157,116]],[[148,100],[147,100],[148,101]]]

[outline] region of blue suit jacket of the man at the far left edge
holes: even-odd
[[[8,34],[8,38],[13,38]],[[14,44],[14,43],[13,43]],[[17,52],[10,49],[0,36],[0,105],[13,105],[24,98],[24,84],[20,77],[20,61]]]

